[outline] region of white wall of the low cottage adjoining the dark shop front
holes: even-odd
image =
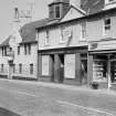
[[[34,77],[36,78],[38,71],[38,45],[31,44],[31,54],[24,54],[24,45],[20,46],[20,54],[18,50],[14,52],[15,73],[14,76]],[[22,74],[19,74],[19,64],[22,64]],[[33,74],[30,74],[30,64],[33,64]]]

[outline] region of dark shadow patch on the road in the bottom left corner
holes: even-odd
[[[0,116],[21,116],[11,110],[0,107]]]

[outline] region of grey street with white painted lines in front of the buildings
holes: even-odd
[[[0,116],[116,116],[116,94],[62,84],[0,80]]]

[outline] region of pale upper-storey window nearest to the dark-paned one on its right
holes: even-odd
[[[86,39],[86,22],[81,23],[81,41]]]

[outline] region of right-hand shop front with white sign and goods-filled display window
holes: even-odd
[[[97,82],[99,88],[116,88],[116,40],[88,44],[88,84]]]

